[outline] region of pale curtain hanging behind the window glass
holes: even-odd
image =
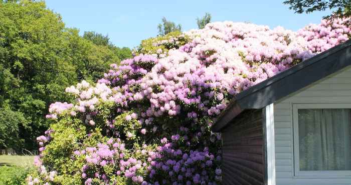
[[[300,170],[351,170],[351,109],[298,109]]]

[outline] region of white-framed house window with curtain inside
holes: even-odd
[[[295,176],[351,176],[351,103],[293,104]]]

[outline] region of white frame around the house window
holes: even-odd
[[[299,134],[298,134],[298,109],[309,108],[350,108],[351,102],[348,103],[296,103],[292,104],[293,108],[293,156],[294,156],[294,177],[326,177],[326,178],[351,178],[351,170],[300,170],[299,156]]]

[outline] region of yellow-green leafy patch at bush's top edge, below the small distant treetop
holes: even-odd
[[[151,37],[142,40],[137,47],[137,54],[166,55],[169,49],[178,49],[190,41],[189,36],[180,31],[170,32],[164,36]]]

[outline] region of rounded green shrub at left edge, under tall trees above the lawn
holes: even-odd
[[[27,127],[27,120],[22,112],[0,108],[0,148],[16,148],[23,145],[19,137],[19,127]]]

